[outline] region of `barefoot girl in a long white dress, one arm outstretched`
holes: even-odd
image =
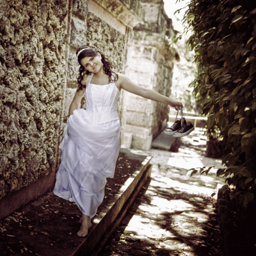
[[[56,174],[54,194],[74,201],[82,211],[77,235],[85,237],[104,198],[106,177],[114,176],[119,154],[120,121],[117,102],[121,89],[166,103],[176,110],[182,103],[116,73],[100,51],[92,46],[77,49],[80,64],[77,92],[69,108],[69,119],[61,142],[62,160]],[[79,109],[85,95],[86,109]]]

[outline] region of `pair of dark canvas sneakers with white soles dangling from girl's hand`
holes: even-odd
[[[187,122],[185,117],[181,117],[180,120],[176,119],[173,126],[164,130],[164,134],[173,135],[174,138],[180,138],[190,134],[192,130],[195,130],[193,124]]]

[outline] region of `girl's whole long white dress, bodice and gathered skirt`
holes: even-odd
[[[92,84],[92,76],[85,89],[86,109],[75,110],[67,120],[53,190],[91,218],[103,201],[106,177],[114,176],[120,137],[119,90],[114,82]]]

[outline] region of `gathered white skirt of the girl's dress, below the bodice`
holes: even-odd
[[[119,119],[94,124],[85,109],[67,121],[54,194],[74,201],[91,218],[104,198],[106,177],[114,176],[119,154]]]

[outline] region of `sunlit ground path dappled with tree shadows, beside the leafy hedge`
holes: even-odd
[[[194,136],[182,139],[177,153],[147,152],[154,155],[151,181],[102,255],[223,255],[216,196],[210,196],[223,179],[216,178],[216,169],[186,176],[187,169],[218,168],[221,161],[203,157],[205,139]]]

